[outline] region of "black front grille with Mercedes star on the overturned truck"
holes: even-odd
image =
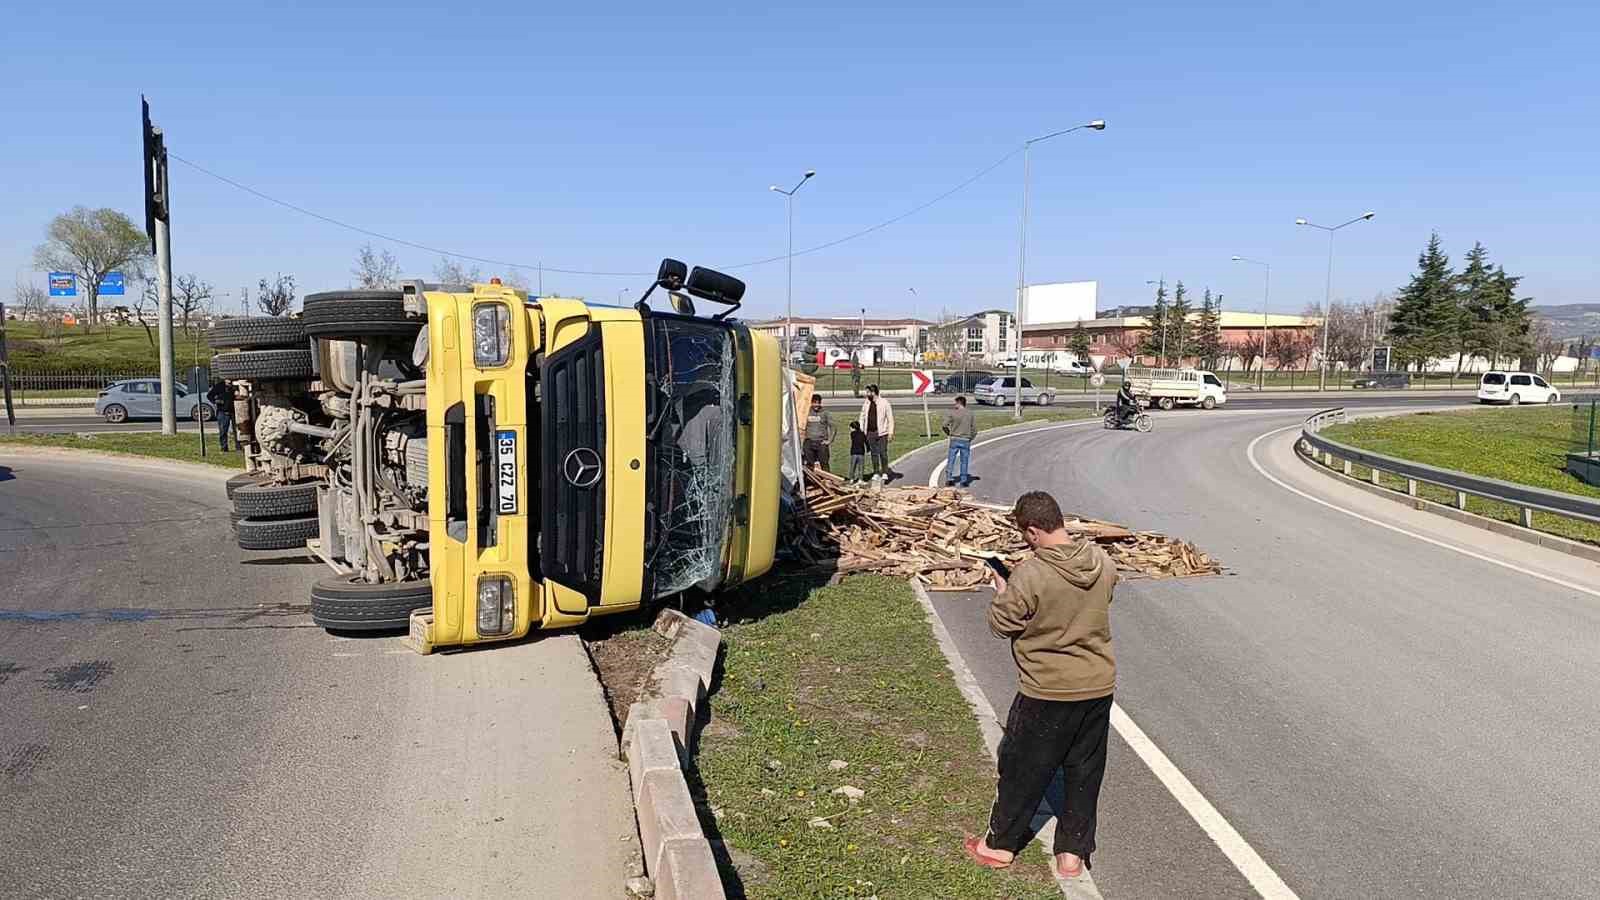
[[[554,580],[600,601],[605,546],[605,359],[600,328],[547,356],[539,365],[541,512],[539,567]],[[598,460],[600,469],[592,464]]]

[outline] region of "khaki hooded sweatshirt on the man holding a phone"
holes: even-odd
[[[989,604],[989,628],[1011,639],[1018,689],[1035,700],[1096,700],[1117,687],[1110,591],[1117,565],[1093,541],[1040,548]]]

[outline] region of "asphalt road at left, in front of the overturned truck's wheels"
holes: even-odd
[[[0,448],[0,895],[619,897],[578,639],[333,637],[227,474]]]

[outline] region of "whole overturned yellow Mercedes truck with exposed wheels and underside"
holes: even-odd
[[[334,570],[318,625],[408,628],[422,652],[755,578],[784,391],[778,343],[730,319],[742,295],[666,259],[629,307],[494,279],[310,295],[298,346],[282,322],[222,322],[240,546],[307,548]]]

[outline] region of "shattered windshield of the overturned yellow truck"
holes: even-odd
[[[733,522],[738,428],[733,331],[669,317],[654,317],[650,325],[656,391],[651,421],[656,541],[650,565],[656,596],[694,586],[712,589],[722,575],[723,543]]]

